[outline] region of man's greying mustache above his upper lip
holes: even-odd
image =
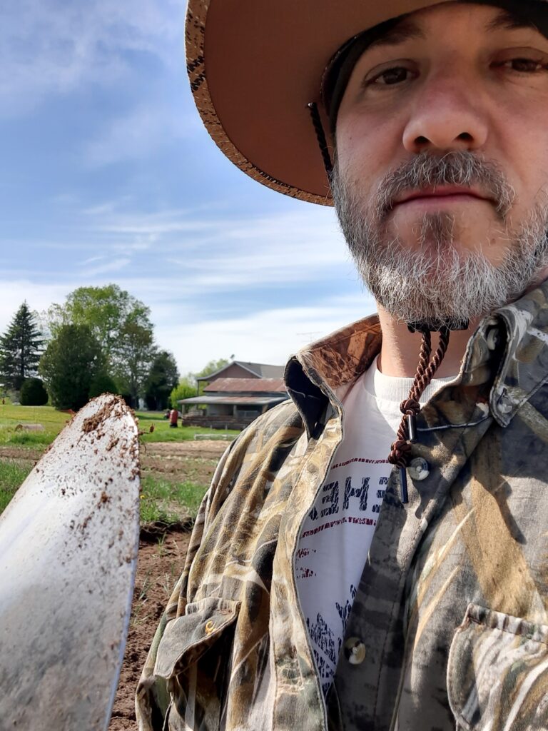
[[[455,185],[482,191],[495,205],[501,221],[506,219],[516,194],[503,171],[470,151],[452,151],[442,156],[424,152],[392,170],[378,184],[375,213],[386,219],[402,194],[430,187]]]

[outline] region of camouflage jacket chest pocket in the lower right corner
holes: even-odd
[[[457,730],[548,728],[548,626],[468,605],[447,668]]]

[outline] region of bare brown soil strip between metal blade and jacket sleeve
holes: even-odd
[[[180,527],[160,537],[142,534],[146,540],[139,544],[132,618],[109,731],[137,729],[135,689],[161,614],[183,571],[190,539],[190,533]]]

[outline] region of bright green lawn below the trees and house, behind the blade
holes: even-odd
[[[139,419],[142,442],[185,442],[194,439],[194,434],[218,433],[202,427],[186,426],[170,429],[163,413],[136,412]],[[0,404],[0,446],[13,444],[23,447],[45,447],[51,444],[70,419],[70,414],[58,412],[52,406],[12,406]],[[18,424],[42,424],[44,431],[15,431]],[[151,425],[154,429],[151,432]],[[231,436],[239,432],[223,431]]]

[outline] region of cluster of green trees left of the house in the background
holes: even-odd
[[[194,377],[227,361],[180,379],[172,353],[154,341],[150,315],[116,284],[75,289],[41,317],[23,302],[0,336],[0,387],[21,404],[75,411],[105,391],[159,410],[196,395]]]

